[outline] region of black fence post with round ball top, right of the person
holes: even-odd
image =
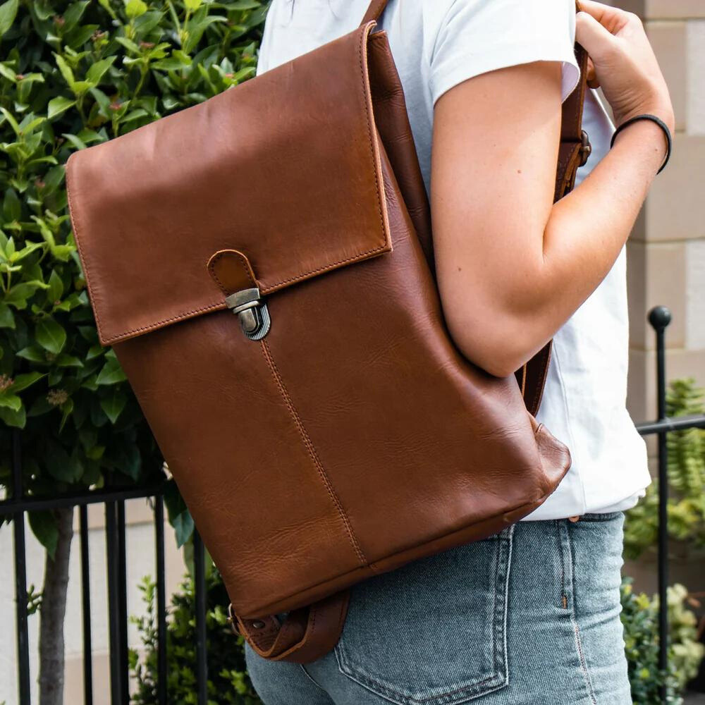
[[[649,312],[649,323],[656,331],[656,391],[658,421],[666,420],[666,328],[671,315],[666,306]],[[658,431],[658,668],[668,673],[668,447],[666,429]],[[661,686],[661,701],[666,702],[666,683]]]

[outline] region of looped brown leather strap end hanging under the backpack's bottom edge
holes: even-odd
[[[348,614],[350,592],[345,590],[290,612],[283,623],[274,615],[259,619],[233,617],[253,651],[270,661],[310,663],[338,643]]]

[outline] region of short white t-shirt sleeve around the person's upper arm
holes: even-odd
[[[562,62],[562,99],[580,79],[573,0],[453,0],[431,54],[436,101],[468,78],[530,61]]]

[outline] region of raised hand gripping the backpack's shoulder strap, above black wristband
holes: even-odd
[[[580,0],[575,23],[575,38],[589,54],[589,85],[602,87],[617,125],[651,113],[673,133],[668,86],[639,17],[594,0]]]

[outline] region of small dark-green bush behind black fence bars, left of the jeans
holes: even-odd
[[[245,671],[243,637],[236,637],[223,609],[228,594],[215,568],[207,575],[206,643],[208,649],[209,705],[262,705]],[[133,618],[140,632],[145,654],[130,651],[130,668],[137,682],[133,705],[157,703],[157,619],[154,582],[145,578],[140,586],[147,607],[145,617]],[[196,632],[195,593],[190,576],[172,596],[169,613],[166,655],[168,702],[196,705]]]

